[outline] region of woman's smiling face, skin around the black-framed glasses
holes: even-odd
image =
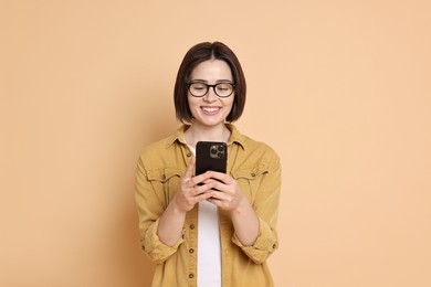
[[[218,83],[232,83],[233,77],[229,65],[221,60],[208,60],[200,63],[190,74],[189,83],[203,83],[216,85]],[[195,97],[188,92],[188,103],[192,124],[206,127],[218,126],[224,123],[232,109],[234,93],[229,97],[219,97],[212,87],[203,97]]]

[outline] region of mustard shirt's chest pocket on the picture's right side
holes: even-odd
[[[240,184],[241,190],[253,204],[259,192],[264,176],[269,172],[266,164],[255,164],[252,167],[241,167],[231,171],[231,176]]]

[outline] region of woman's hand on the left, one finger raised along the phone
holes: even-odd
[[[209,180],[210,174],[203,173],[192,177],[195,166],[196,159],[193,157],[181,178],[181,185],[174,196],[172,203],[181,213],[193,209],[199,201],[209,199],[214,192],[212,189],[217,185],[217,181]]]

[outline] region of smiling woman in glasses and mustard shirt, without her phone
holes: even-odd
[[[138,161],[136,203],[143,251],[157,263],[153,286],[273,286],[266,258],[277,248],[278,157],[231,124],[245,78],[223,43],[186,54],[175,85],[183,124]],[[227,173],[193,177],[198,141],[228,145]]]

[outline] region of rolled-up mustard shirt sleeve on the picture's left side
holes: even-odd
[[[135,201],[139,215],[140,246],[150,259],[155,263],[162,263],[170,255],[177,252],[178,246],[183,242],[180,236],[174,246],[160,242],[157,231],[159,217],[162,215],[166,203],[157,196],[157,189],[162,189],[159,182],[148,180],[143,157],[139,158],[136,171]],[[159,190],[161,193],[162,190]],[[182,231],[182,235],[185,231]]]

